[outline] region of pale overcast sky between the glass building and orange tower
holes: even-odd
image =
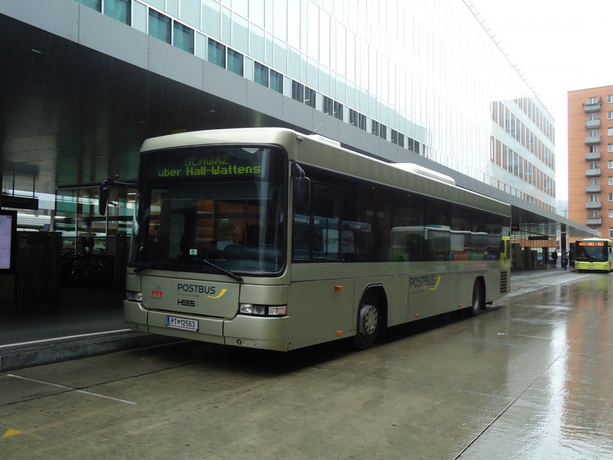
[[[555,118],[556,190],[568,198],[568,91],[613,85],[613,0],[467,0]]]

